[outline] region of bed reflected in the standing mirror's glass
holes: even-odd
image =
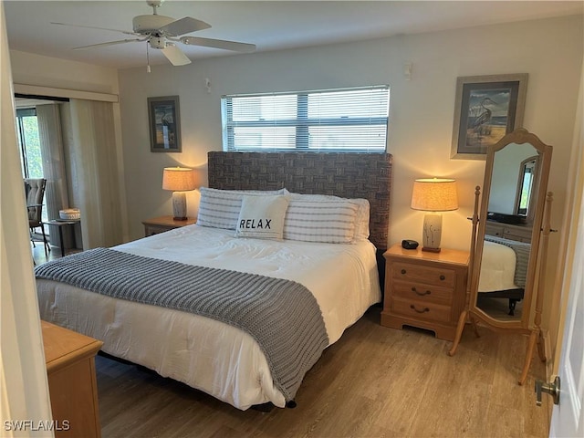
[[[515,315],[516,303],[523,299],[525,292],[530,250],[530,244],[485,235],[479,297],[508,298],[508,314]]]

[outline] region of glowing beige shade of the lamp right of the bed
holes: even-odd
[[[425,212],[448,212],[458,208],[456,181],[422,178],[413,182],[412,208]]]

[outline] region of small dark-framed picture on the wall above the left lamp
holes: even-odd
[[[151,152],[181,151],[179,97],[148,98]]]

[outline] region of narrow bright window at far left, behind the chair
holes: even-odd
[[[20,146],[23,177],[43,178],[43,159],[40,154],[35,108],[16,110],[16,136]]]

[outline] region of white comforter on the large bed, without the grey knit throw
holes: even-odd
[[[381,300],[370,242],[310,244],[234,238],[185,226],[112,249],[182,263],[297,281],[313,293],[332,344]],[[183,381],[236,408],[284,407],[266,358],[247,333],[210,318],[37,280],[41,318],[104,341],[103,350]]]

